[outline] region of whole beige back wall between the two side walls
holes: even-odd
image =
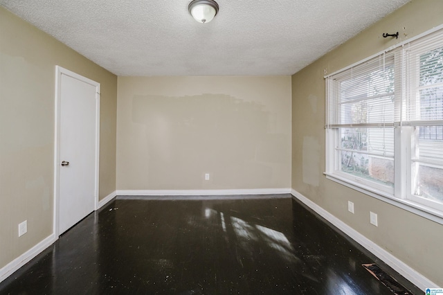
[[[118,77],[117,118],[118,190],[291,186],[290,76]]]

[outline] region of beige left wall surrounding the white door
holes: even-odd
[[[100,198],[116,189],[116,75],[0,7],[0,268],[53,232],[55,65],[101,84]]]

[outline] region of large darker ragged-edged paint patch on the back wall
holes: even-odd
[[[290,134],[269,131],[275,115],[260,102],[211,93],[133,96],[131,111],[147,140],[138,157],[126,161],[140,166],[137,174],[149,175],[157,189],[282,186]],[[141,143],[137,136],[128,142]],[[210,181],[204,172],[211,172]]]

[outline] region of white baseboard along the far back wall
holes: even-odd
[[[213,196],[289,194],[291,188],[256,188],[240,190],[117,190],[118,196]]]

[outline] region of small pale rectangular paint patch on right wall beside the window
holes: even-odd
[[[314,136],[303,138],[303,183],[318,186],[320,183],[320,143]]]

